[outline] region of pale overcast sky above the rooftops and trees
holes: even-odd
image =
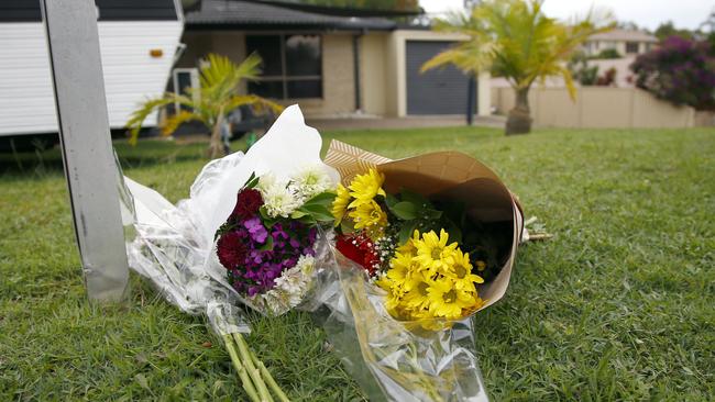
[[[463,0],[419,0],[429,13],[460,9]],[[546,0],[543,11],[549,16],[566,19],[584,14],[592,7],[605,7],[618,21],[632,21],[638,26],[654,30],[671,20],[676,27],[696,29],[715,8],[715,0]]]

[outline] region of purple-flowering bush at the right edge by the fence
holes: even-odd
[[[657,98],[696,110],[715,110],[715,45],[671,36],[636,58],[636,86]]]

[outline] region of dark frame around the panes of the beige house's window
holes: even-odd
[[[308,75],[308,76],[288,76],[288,65],[286,62],[286,37],[292,35],[316,35],[320,38],[320,75]],[[323,35],[319,32],[261,32],[261,33],[246,33],[244,36],[245,42],[245,52],[248,56],[249,52],[249,37],[250,36],[278,36],[280,42],[280,71],[279,76],[265,76],[261,75],[256,81],[264,82],[282,82],[283,98],[273,98],[278,101],[297,101],[297,100],[323,100],[326,92],[323,86],[323,75],[324,68],[322,65],[323,60]],[[288,81],[315,81],[320,80],[320,97],[309,97],[309,98],[290,98],[288,97]]]

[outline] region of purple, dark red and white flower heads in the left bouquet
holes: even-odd
[[[216,253],[233,289],[257,309],[282,314],[298,305],[315,271],[321,225],[330,225],[333,185],[310,168],[288,180],[252,175],[217,231]]]

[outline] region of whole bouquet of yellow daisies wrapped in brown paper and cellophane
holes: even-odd
[[[362,356],[349,369],[374,399],[486,400],[470,317],[508,286],[516,199],[454,152],[393,161],[333,141],[326,163],[342,183],[324,327],[339,353]]]

